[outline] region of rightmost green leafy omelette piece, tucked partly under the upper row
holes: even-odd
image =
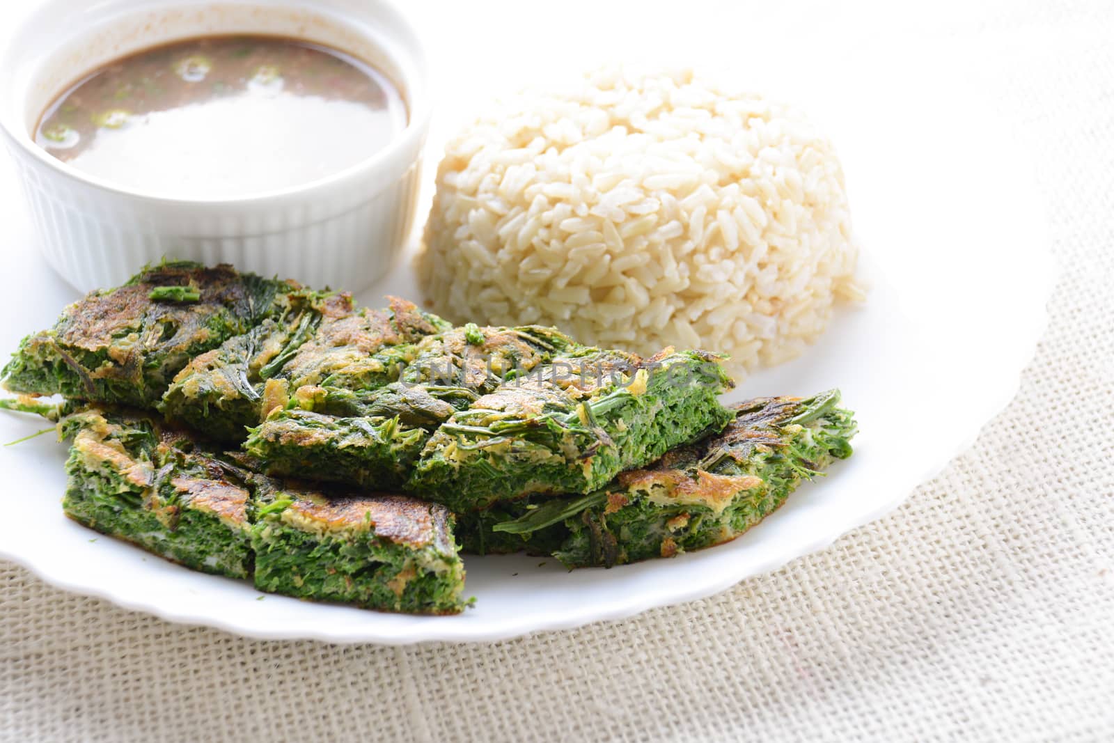
[[[466,551],[526,549],[568,567],[672,557],[729,541],[851,454],[839,391],[740,403],[719,434],[671,450],[586,496],[537,497],[463,517]]]

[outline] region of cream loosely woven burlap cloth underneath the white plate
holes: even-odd
[[[480,645],[256,642],[3,564],[0,740],[1114,739],[1114,7],[905,4],[776,12],[965,69],[1062,274],[1017,398],[903,506],[706,600]]]

